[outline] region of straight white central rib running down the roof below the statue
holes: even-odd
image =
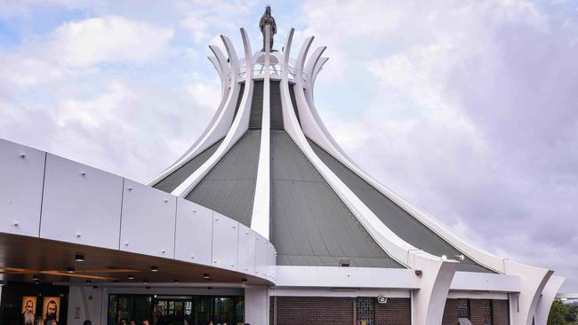
[[[265,39],[268,40],[271,30],[265,26]],[[248,40],[247,40],[248,41]],[[269,240],[269,207],[270,207],[270,43],[265,42],[265,64],[263,65],[263,111],[261,116],[261,145],[259,149],[259,164],[253,201],[251,229]]]

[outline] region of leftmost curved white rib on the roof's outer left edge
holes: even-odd
[[[197,141],[195,141],[195,143],[189,147],[189,149],[181,155],[176,162],[163,170],[157,175],[157,177],[150,179],[147,182],[148,186],[156,185],[160,180],[173,173],[174,170],[178,170],[185,163],[189,163],[192,158],[224,137],[229,130],[229,125],[233,120],[233,115],[235,114],[235,105],[237,103],[239,86],[233,79],[229,79],[229,63],[227,63],[227,59],[225,59],[221,50],[214,45],[210,45],[209,48],[214,53],[215,56],[213,59],[216,59],[217,63],[215,64],[213,59],[209,59],[215,66],[215,69],[221,78],[221,102],[219,103],[219,107],[217,107],[211,122],[205,128],[205,131],[203,131],[203,133],[198,137]]]

